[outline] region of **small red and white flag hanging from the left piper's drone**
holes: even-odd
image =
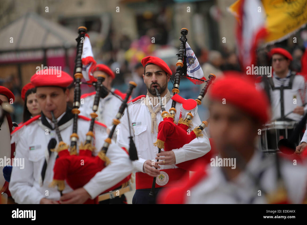
[[[92,69],[96,66],[96,61],[94,59],[94,54],[92,51],[92,46],[88,34],[84,36],[83,49],[82,49],[82,75],[87,83],[92,83],[97,81],[93,77]]]

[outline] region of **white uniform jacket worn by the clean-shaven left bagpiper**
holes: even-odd
[[[64,114],[65,113],[57,119],[58,122]],[[49,184],[53,179],[53,166],[57,156],[56,152],[50,154],[43,186],[39,185],[42,166],[45,161],[45,153],[48,152],[48,143],[51,138],[55,138],[57,144],[59,143],[59,140],[56,136],[55,130],[51,130],[48,126],[44,125],[45,123],[42,122],[41,117],[38,117],[33,122],[24,125],[24,127],[20,129],[21,133],[19,133],[15,158],[24,158],[24,168],[13,167],[9,184],[12,197],[18,204],[39,204],[42,198],[55,201],[60,199],[60,192],[57,191],[56,188],[49,187]],[[48,118],[46,119],[49,124],[54,127],[53,123]],[[68,145],[70,145],[72,126],[72,117],[68,117],[67,121],[59,126],[61,137]],[[77,133],[79,135],[79,143],[80,141],[85,141],[89,126],[90,121],[87,120],[87,118],[78,119]],[[95,139],[93,144],[95,145],[96,150],[93,154],[97,155],[103,146],[104,139],[107,137],[105,125],[95,122],[94,134]],[[12,135],[14,136],[14,133],[12,133]],[[84,186],[84,189],[86,189],[86,191],[91,195],[91,199],[94,199],[103,191],[114,186],[133,171],[128,154],[116,144],[112,143],[109,146],[107,157],[110,159],[111,164],[98,172]],[[65,182],[63,193],[71,191],[72,189]]]

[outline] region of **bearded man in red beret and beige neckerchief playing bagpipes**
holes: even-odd
[[[166,111],[171,108],[172,101],[169,90],[167,89],[168,81],[172,75],[169,66],[160,58],[148,56],[142,59],[144,66],[143,79],[147,87],[147,95],[138,96],[127,105],[127,111],[123,114],[119,124],[119,134],[117,135],[117,144],[127,148],[129,146],[129,133],[135,140],[138,153],[138,160],[133,162],[135,175],[136,191],[132,200],[133,204],[152,204],[155,203],[155,197],[150,197],[150,188],[153,184],[153,178],[161,172],[163,181],[157,178],[155,194],[161,187],[171,185],[173,181],[178,180],[186,171],[178,168],[175,164],[190,159],[196,159],[210,151],[210,143],[207,134],[199,137],[184,145],[182,148],[174,151],[158,153],[158,148],[153,145],[157,141],[158,124],[162,121],[161,106],[157,100],[157,92],[161,95],[163,105]],[[150,100],[152,99],[152,100]],[[178,122],[181,104],[177,102],[175,121]],[[128,118],[129,114],[129,118]],[[194,126],[201,124],[197,111],[193,113],[192,122]],[[185,118],[184,115],[182,115]],[[130,122],[128,122],[130,121]],[[129,124],[129,127],[127,126]],[[129,130],[130,128],[130,130]],[[159,159],[159,162],[155,162]],[[157,168],[157,169],[156,169]]]

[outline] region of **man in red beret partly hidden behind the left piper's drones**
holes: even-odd
[[[125,98],[126,94],[123,94],[119,90],[111,87],[111,83],[115,79],[115,74],[108,66],[103,64],[97,64],[92,72],[93,77],[95,78],[97,78],[98,74],[106,75],[106,78],[102,83],[103,86],[106,87],[108,90],[114,92],[120,98]],[[90,114],[93,112],[92,107],[95,93],[96,92],[91,92],[83,94],[81,96],[81,99],[84,99],[84,104],[81,103],[79,108],[81,115],[90,117]],[[97,120],[101,123],[104,123],[108,128],[110,128],[112,126],[112,119],[118,112],[121,104],[122,101],[111,93],[109,93],[105,98],[100,98],[99,109],[97,111]],[[114,137],[116,138],[116,135]]]

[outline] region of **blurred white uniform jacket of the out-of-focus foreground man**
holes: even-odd
[[[256,152],[247,163],[246,169],[231,182],[227,181],[221,167],[209,167],[204,178],[196,185],[188,187],[190,196],[187,196],[186,191],[181,194],[185,195],[186,204],[267,204],[265,193],[274,193],[277,189],[274,162],[274,157],[262,159],[261,153]],[[293,161],[289,159],[280,159],[280,164],[288,200],[292,204],[301,204],[307,187],[306,165],[293,165]],[[253,178],[259,179],[259,186]]]

